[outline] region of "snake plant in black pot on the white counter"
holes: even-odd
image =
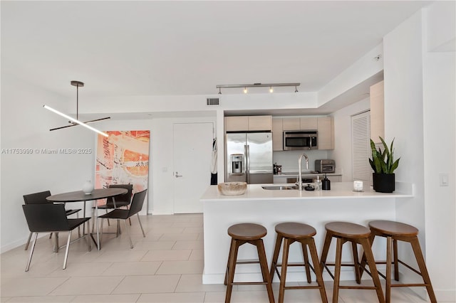
[[[380,193],[392,193],[395,190],[395,169],[399,166],[399,159],[394,160],[394,139],[388,148],[385,140],[379,137],[383,144],[383,151],[379,147],[375,147],[375,143],[371,139],[372,159],[369,163],[373,169],[373,189]]]

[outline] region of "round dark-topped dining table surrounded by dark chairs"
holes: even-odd
[[[125,193],[128,193],[128,190],[125,188],[95,188],[91,193],[84,193],[83,191],[70,191],[68,193],[58,193],[56,195],[48,196],[46,200],[53,203],[84,202],[84,216],[86,216],[86,202],[94,201],[93,204],[95,204],[95,213],[93,220],[95,220],[96,240],[95,238],[93,238],[93,233],[90,233],[90,238],[92,238],[92,240],[95,242],[95,245],[97,245],[97,249],[100,250],[100,230],[98,227],[98,203],[96,200],[112,197],[115,208],[115,197],[123,195]]]

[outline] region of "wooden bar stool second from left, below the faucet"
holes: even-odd
[[[280,288],[279,288],[279,303],[284,302],[285,289],[320,289],[321,302],[328,302],[326,297],[325,286],[323,284],[323,277],[321,275],[321,267],[318,261],[318,255],[316,253],[316,246],[314,241],[314,235],[316,235],[316,230],[311,225],[303,223],[280,223],[276,225],[276,245],[274,248],[274,256],[272,257],[271,262],[271,281],[274,278],[274,272],[277,272],[277,276],[280,279]],[[281,264],[277,263],[279,258],[279,252],[282,241],[284,242],[284,250],[282,252],[282,262]],[[299,242],[301,243],[302,252],[304,256],[304,263],[288,263],[289,247],[292,243]],[[309,264],[309,256],[307,254],[307,248],[311,252],[312,263],[314,267]],[[316,281],[318,285],[315,286],[285,286],[286,284],[286,269],[289,266],[304,266],[306,267],[306,276],[307,282],[311,282],[311,272],[313,270],[316,275]],[[277,267],[281,267],[281,272]]]

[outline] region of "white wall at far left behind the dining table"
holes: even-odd
[[[93,154],[43,154],[41,149],[93,150],[95,137],[83,127],[50,132],[68,122],[43,109],[43,104],[67,106],[58,95],[1,75],[1,252],[24,244],[28,237],[23,195],[79,190],[93,176]],[[33,153],[9,154],[9,149],[31,149]]]

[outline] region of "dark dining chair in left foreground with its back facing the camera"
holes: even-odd
[[[33,257],[33,250],[35,250],[36,239],[38,233],[61,233],[68,231],[68,240],[66,241],[65,257],[63,259],[63,270],[66,269],[66,261],[68,259],[68,250],[70,244],[76,240],[86,238],[88,243],[88,250],[90,246],[90,230],[88,233],[76,240],[71,241],[71,232],[75,228],[86,223],[90,218],[76,218],[68,219],[66,216],[65,206],[63,204],[26,204],[23,205],[24,215],[26,216],[28,229],[34,234],[33,244],[31,245],[30,256],[26,266],[26,272],[30,268],[31,258]]]

